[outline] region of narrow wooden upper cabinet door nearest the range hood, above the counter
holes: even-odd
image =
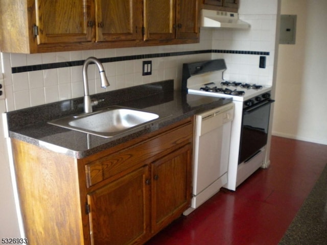
[[[198,16],[198,0],[177,0],[177,38],[199,37]]]

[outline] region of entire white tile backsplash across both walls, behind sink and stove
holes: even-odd
[[[242,18],[250,22],[249,30],[201,29],[200,43],[195,44],[28,55],[2,53],[7,111],[83,96],[82,65],[50,69],[39,69],[39,67],[60,62],[74,63],[90,56],[100,59],[137,57],[137,59],[103,63],[110,83],[106,89],[100,87],[99,72],[95,65],[89,65],[90,94],[167,79],[173,79],[175,89],[179,89],[183,63],[218,58],[226,60],[228,68],[224,79],[272,84],[276,16],[243,15]],[[210,52],[201,52],[208,50]],[[176,52],[178,55],[169,55]],[[157,57],[156,54],[161,55]],[[266,69],[259,68],[261,54],[267,57]],[[151,58],[141,59],[140,55]],[[150,76],[142,76],[144,60],[152,61]],[[19,72],[16,72],[15,68]],[[29,69],[21,72],[20,68]]]

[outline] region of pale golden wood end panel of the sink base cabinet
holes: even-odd
[[[28,244],[85,244],[76,159],[12,139]]]

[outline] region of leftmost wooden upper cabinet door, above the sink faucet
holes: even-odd
[[[91,0],[36,0],[37,43],[91,41],[91,8]]]

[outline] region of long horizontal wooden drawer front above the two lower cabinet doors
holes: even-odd
[[[193,123],[189,121],[130,148],[107,154],[85,165],[86,186],[91,187],[120,173],[126,174],[126,171],[168,154],[183,141],[191,142],[192,138]]]

